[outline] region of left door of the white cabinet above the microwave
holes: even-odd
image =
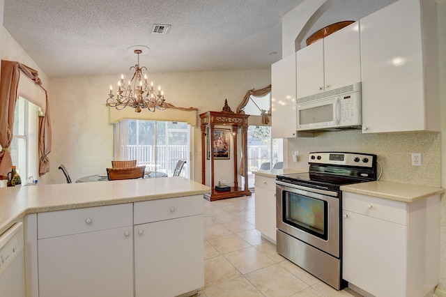
[[[323,39],[296,52],[297,98],[323,92]]]

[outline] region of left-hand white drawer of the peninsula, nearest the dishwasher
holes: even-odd
[[[37,214],[38,239],[132,225],[132,204]]]

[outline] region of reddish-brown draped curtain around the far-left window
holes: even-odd
[[[38,72],[17,61],[1,61],[0,81],[0,179],[6,179],[13,162],[10,155],[10,144],[13,140],[15,102],[20,72],[33,80],[43,89]],[[49,121],[48,94],[46,94],[45,116],[39,119],[39,175],[49,172],[48,153],[51,151],[51,125]]]

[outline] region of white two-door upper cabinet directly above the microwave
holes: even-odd
[[[296,65],[297,98],[360,82],[359,22],[298,51]]]

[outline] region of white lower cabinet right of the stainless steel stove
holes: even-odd
[[[438,284],[438,195],[410,204],[343,195],[344,280],[392,297],[425,296]]]

